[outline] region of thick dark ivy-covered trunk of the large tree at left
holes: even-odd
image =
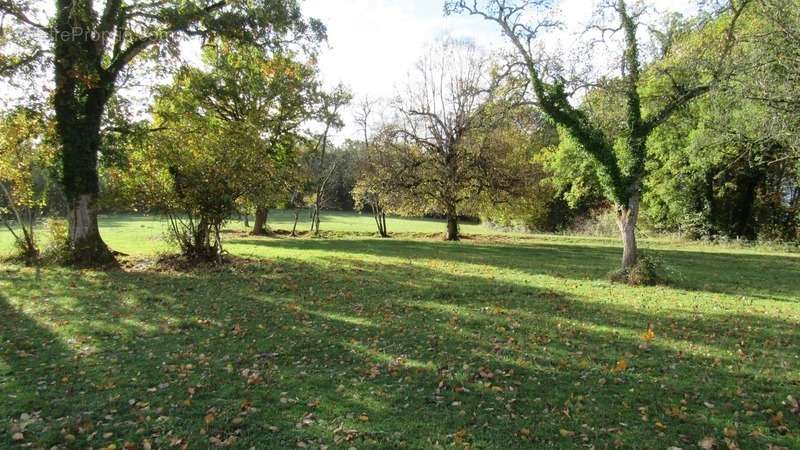
[[[56,126],[67,197],[70,259],[79,266],[101,266],[114,261],[97,225],[100,122],[114,83],[101,67],[102,57],[94,39],[74,33],[76,29],[91,30],[91,18],[75,7],[72,0],[57,2]]]

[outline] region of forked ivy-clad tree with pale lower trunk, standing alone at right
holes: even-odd
[[[666,48],[654,55],[651,61],[643,60],[639,44],[640,19],[644,11],[630,9],[625,0],[604,3],[604,10],[611,11],[614,25],[598,24],[594,27],[603,37],[621,33],[622,51],[617,65],[621,72],[618,85],[621,89],[624,121],[618,133],[604,130],[592,117],[570,102],[572,92],[567,80],[550,73],[551,65],[535,52],[540,33],[557,25],[549,19],[538,19],[548,12],[551,2],[544,0],[453,0],[446,4],[451,13],[466,12],[494,22],[513,44],[519,64],[527,74],[528,85],[538,107],[567,132],[585,154],[597,162],[597,176],[605,195],[614,203],[617,223],[623,242],[622,269],[628,270],[637,261],[636,224],[639,218],[640,200],[646,176],[646,143],[653,131],[666,122],[675,112],[693,99],[709,92],[726,73],[722,63],[729,56],[735,43],[734,27],[749,0],[732,0],[725,8],[726,23],[712,21],[726,27],[722,45],[708,46],[713,50],[709,57],[697,58],[695,67],[670,67],[663,64],[658,73],[664,82],[664,90],[655,98],[643,98],[640,93],[643,66],[669,60],[673,52],[681,49]],[[705,25],[700,22],[698,27]],[[692,70],[695,69],[695,70]],[[579,85],[593,84],[593,80],[578,80]]]

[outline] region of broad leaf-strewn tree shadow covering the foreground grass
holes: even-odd
[[[237,436],[236,448],[652,447],[734,422],[742,448],[797,444],[766,412],[797,388],[791,318],[334,256],[13,283],[0,297],[13,324],[0,341],[2,420],[41,411],[27,435],[45,448],[64,444],[61,428],[81,448],[212,436]],[[642,349],[648,324],[657,338]]]

